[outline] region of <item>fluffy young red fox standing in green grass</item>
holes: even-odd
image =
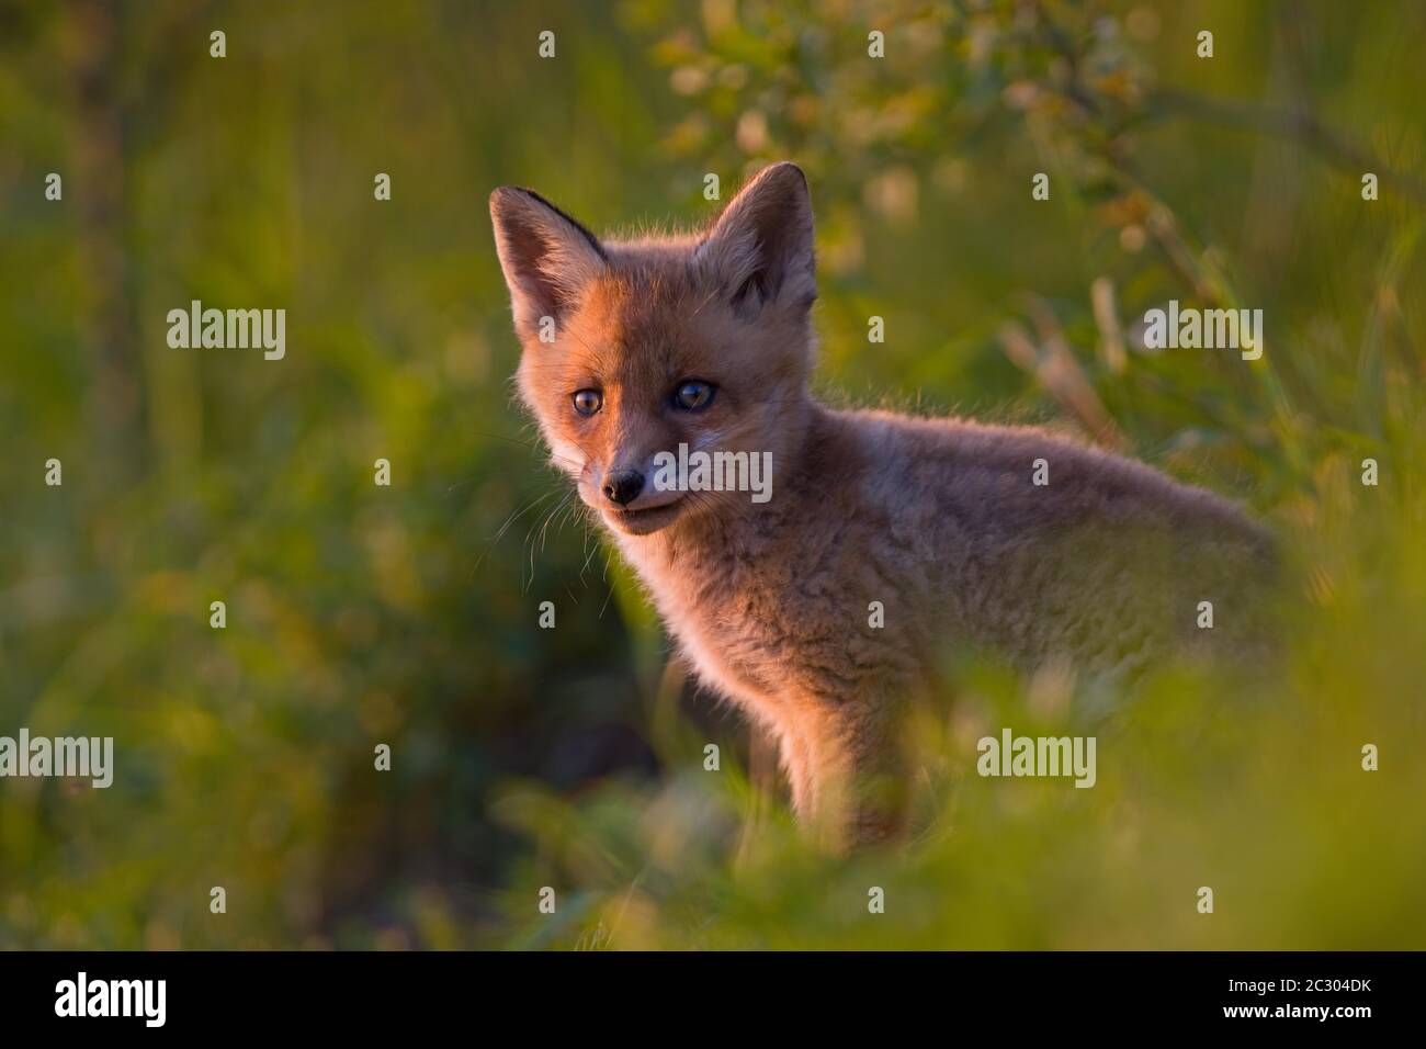
[[[898,711],[951,644],[1107,679],[1252,644],[1272,555],[1216,495],[1035,428],[811,398],[796,164],[702,234],[599,240],[513,187],[491,216],[555,462],[699,676],[777,739],[799,818],[837,842],[898,828]],[[660,452],[689,448],[769,462],[761,501],[656,482]]]

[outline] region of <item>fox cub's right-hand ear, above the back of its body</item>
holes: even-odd
[[[817,298],[811,197],[791,163],[757,173],[723,208],[694,250],[694,263],[727,291],[739,313],[767,303],[807,310]]]

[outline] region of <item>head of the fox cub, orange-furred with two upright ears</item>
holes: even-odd
[[[602,240],[530,190],[491,194],[522,344],[519,392],[555,464],[625,535],[747,512],[655,484],[660,452],[794,450],[817,297],[807,180],[754,177],[702,234]]]

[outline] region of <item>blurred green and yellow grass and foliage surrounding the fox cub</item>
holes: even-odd
[[[1328,0],[0,3],[0,735],[117,749],[0,781],[0,948],[1426,946],[1423,41]],[[700,223],[780,158],[826,397],[1245,501],[1271,681],[1165,672],[1077,791],[974,774],[1064,682],[957,665],[915,841],[800,843],[560,507],[486,213]],[[193,298],[287,308],[287,358],[171,350]],[[1169,298],[1262,308],[1263,360],[1145,353]]]

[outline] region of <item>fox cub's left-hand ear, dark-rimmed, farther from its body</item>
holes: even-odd
[[[542,317],[558,321],[607,261],[595,234],[530,190],[492,193],[491,221],[522,337],[533,337]]]

